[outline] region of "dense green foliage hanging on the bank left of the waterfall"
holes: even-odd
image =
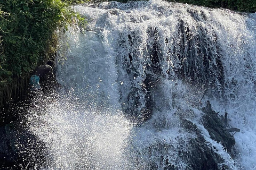
[[[78,17],[70,4],[81,0],[0,0],[0,100],[17,97],[18,80],[49,58],[57,28],[65,31]],[[81,19],[81,18],[80,18]],[[82,20],[82,19],[81,19]],[[22,81],[28,83],[28,81]],[[23,84],[24,85],[24,84]],[[24,89],[18,89],[18,91]],[[21,92],[20,92],[21,94]],[[19,96],[19,95],[18,95]]]

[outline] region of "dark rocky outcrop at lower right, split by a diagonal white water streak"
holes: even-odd
[[[227,150],[228,154],[233,157],[235,138],[229,133],[225,122],[223,122],[220,116],[218,116],[217,112],[213,111],[210,101],[207,101],[206,106],[203,107],[202,111],[204,112],[202,124],[209,132],[211,139],[221,143],[223,148]],[[223,160],[221,156],[213,150],[211,145],[207,143],[201,131],[193,122],[184,119],[182,120],[181,126],[189,133],[196,134],[196,138],[192,138],[189,141],[189,152],[182,154],[185,155],[184,159],[187,160],[187,164],[190,169],[230,169],[230,167],[225,164],[225,160]],[[173,168],[166,167],[166,169]]]

